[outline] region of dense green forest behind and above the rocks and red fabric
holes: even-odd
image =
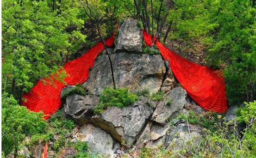
[[[142,29],[190,61],[222,70],[229,105],[255,100],[255,0],[2,0],[2,122],[10,121],[2,126],[2,140],[7,154],[18,150],[25,135],[44,129],[38,121],[10,134],[15,124],[40,119],[22,115],[25,108],[16,106],[22,105],[22,95],[101,37],[111,36],[124,18],[136,18]],[[66,73],[58,73],[63,81]]]

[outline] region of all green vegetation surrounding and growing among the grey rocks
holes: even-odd
[[[46,141],[53,142],[50,151],[54,158],[68,148],[75,151],[72,158],[98,157],[90,152],[87,143],[74,143],[66,137],[75,129],[74,120],[64,118],[59,110],[44,121],[43,113],[21,106],[22,96],[53,73],[66,84],[63,79],[68,74],[64,69],[57,70],[112,36],[125,18],[137,19],[141,29],[178,55],[223,71],[229,105],[245,103],[245,107],[237,110],[237,119],[232,123],[225,122],[224,115],[217,113],[179,114],[168,126],[174,127],[177,120],[184,120],[187,125],[206,128],[200,144],[194,144],[191,138],[191,146],[179,150],[130,148],[123,156],[256,157],[255,0],[2,0],[2,157],[25,157],[19,152],[24,146],[38,146]],[[154,49],[155,46],[144,46],[143,53],[159,55]],[[85,87],[77,87],[65,97],[74,93],[90,95]],[[128,107],[140,97],[159,103],[164,92],[106,88],[100,93],[94,113],[100,115],[110,107]],[[166,103],[170,105],[171,100]],[[240,125],[241,131],[237,130]]]

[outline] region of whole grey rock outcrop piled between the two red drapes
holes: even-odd
[[[116,47],[109,49],[116,85],[127,87],[132,92],[144,89],[148,89],[150,94],[164,91],[164,99],[156,102],[148,97],[140,97],[129,107],[111,107],[102,114],[94,114],[100,92],[112,86],[110,63],[105,52],[97,57],[84,83],[91,94],[73,94],[65,98],[63,114],[71,116],[79,128],[72,142],[87,141],[91,150],[103,158],[117,157],[129,148],[142,146],[178,148],[180,146],[176,142],[181,141],[181,137],[175,136],[176,133],[184,137],[184,143],[191,135],[198,138],[201,135],[201,127],[188,125],[184,120],[175,122],[173,127],[169,126],[172,118],[182,112],[187,113],[187,109],[199,114],[204,110],[178,86],[169,62],[164,61],[161,55],[142,52],[142,40],[137,21],[126,19],[119,28]],[[68,86],[62,93],[70,88],[74,86]]]

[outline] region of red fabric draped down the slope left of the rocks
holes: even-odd
[[[118,27],[116,30],[117,29]],[[105,40],[108,47],[113,45],[115,34],[116,31],[114,32],[113,36]],[[86,54],[75,59],[74,61],[66,63],[63,68],[68,75],[64,79],[67,85],[84,83],[88,78],[89,68],[93,67],[95,58],[102,50],[104,50],[104,45],[102,42],[100,42],[90,49]],[[50,78],[51,79],[40,79],[37,85],[35,85],[29,93],[23,95],[23,105],[31,111],[43,111],[44,119],[48,119],[60,108],[62,103],[60,97],[61,90],[67,86],[63,85],[61,81],[54,79],[53,76],[50,76]]]

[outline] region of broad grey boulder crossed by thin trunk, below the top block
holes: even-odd
[[[110,56],[117,87],[127,87],[131,91],[148,89],[150,93],[160,90],[165,74],[165,66],[161,55],[123,52]],[[100,55],[95,60],[94,67],[84,84],[94,95],[99,95],[105,87],[113,86],[107,55]]]

